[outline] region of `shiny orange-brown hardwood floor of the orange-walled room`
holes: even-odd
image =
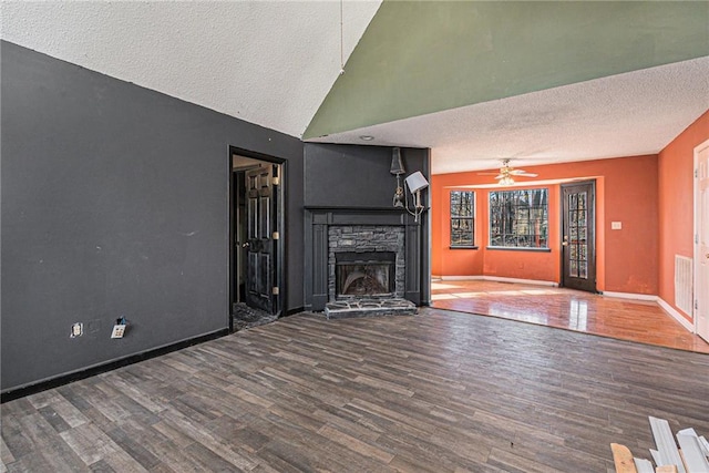
[[[432,284],[432,295],[433,307],[439,309],[709,353],[709,343],[689,332],[651,301],[484,280],[438,280]]]

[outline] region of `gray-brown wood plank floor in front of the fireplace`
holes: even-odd
[[[301,313],[1,407],[9,472],[610,472],[709,434],[709,356],[422,309]]]

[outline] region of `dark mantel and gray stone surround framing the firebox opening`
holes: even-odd
[[[422,228],[409,214],[393,208],[306,207],[304,256],[311,261],[306,264],[306,309],[320,311],[328,305],[342,304],[335,294],[338,251],[395,253],[394,297],[384,297],[388,302],[379,306],[388,306],[382,309],[388,313],[400,309],[398,301],[409,308],[420,306]],[[371,302],[368,298],[361,305]]]

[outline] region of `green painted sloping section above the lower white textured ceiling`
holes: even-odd
[[[705,1],[384,1],[304,138],[703,55]]]

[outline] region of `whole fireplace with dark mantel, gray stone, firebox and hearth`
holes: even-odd
[[[304,280],[306,308],[312,311],[323,310],[326,315],[327,306],[352,307],[356,304],[387,306],[387,310],[397,306],[394,309],[399,310],[398,306],[403,305],[399,301],[403,301],[410,302],[415,309],[417,305],[422,304],[422,295],[429,290],[428,278],[422,278],[422,275],[428,274],[428,259],[423,257],[428,245],[428,234],[424,229],[421,223],[395,208],[306,207],[304,257],[306,261],[311,261],[306,265]],[[358,256],[351,260],[343,255],[348,253]],[[382,256],[380,253],[387,255],[383,261],[378,260]],[[379,296],[341,294],[342,287],[338,290],[338,279],[343,282],[349,276],[342,277],[342,271],[362,273],[362,268],[338,267],[343,266],[343,263],[349,264],[348,266],[360,265],[358,261],[386,265],[388,269],[379,267],[373,276],[370,268],[369,277],[379,281],[389,292]],[[383,280],[383,276],[388,276],[388,281]],[[379,285],[373,285],[372,279],[367,280],[368,282],[360,281],[361,285],[357,282],[352,289],[366,292],[382,291]],[[361,287],[370,282],[377,290]],[[338,316],[328,315],[328,318],[332,317]]]

